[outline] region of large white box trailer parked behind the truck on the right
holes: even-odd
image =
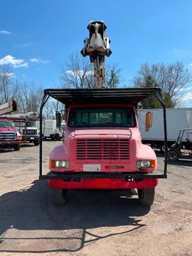
[[[145,131],[145,114],[152,113],[152,126],[149,131]],[[163,134],[163,114],[162,109],[138,110],[139,128],[142,136],[142,142],[157,146],[164,151],[164,134]],[[175,143],[178,132],[181,129],[192,128],[192,108],[167,108],[166,109],[166,128],[168,146]],[[191,134],[186,133],[183,142],[192,140]]]

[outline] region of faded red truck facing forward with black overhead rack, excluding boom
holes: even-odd
[[[143,145],[136,105],[156,95],[166,111],[160,89],[46,89],[40,107],[40,179],[48,179],[52,202],[65,203],[68,189],[137,188],[139,203],[151,206],[158,178],[156,155]],[[52,150],[49,173],[42,174],[42,110],[51,96],[65,104],[62,145]],[[58,123],[61,122],[59,115]],[[150,113],[146,116],[149,128]],[[167,150],[166,150],[167,152]]]

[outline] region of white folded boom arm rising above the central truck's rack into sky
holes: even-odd
[[[109,57],[110,38],[106,37],[107,26],[102,21],[92,21],[87,27],[89,38],[84,40],[84,47],[81,50],[83,57],[89,56],[94,68],[95,86],[97,89],[104,87],[105,83],[105,56]]]

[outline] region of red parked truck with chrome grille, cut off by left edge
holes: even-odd
[[[22,135],[13,127],[11,121],[0,119],[0,148],[13,148],[18,151],[21,147]]]

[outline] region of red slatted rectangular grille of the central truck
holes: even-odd
[[[77,160],[128,160],[130,140],[77,140]]]

